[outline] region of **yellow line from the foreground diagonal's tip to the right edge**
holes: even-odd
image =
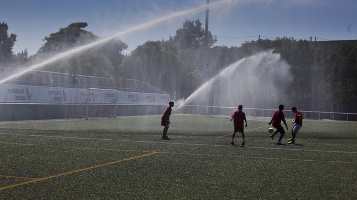
[[[178,152],[160,152],[161,154],[180,154],[180,155],[197,155],[197,156],[217,156],[217,157],[239,157],[239,158],[253,158],[253,159],[269,159],[269,160],[291,160],[291,161],[308,161],[308,162],[332,162],[332,163],[351,163],[351,161],[333,161],[333,160],[308,160],[308,159],[291,159],[291,158],[278,158],[278,157],[249,157],[249,156],[231,156],[231,155],[217,155],[217,154],[192,154],[192,153],[178,153]]]

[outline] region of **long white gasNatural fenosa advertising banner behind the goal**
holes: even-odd
[[[0,84],[1,103],[112,103],[167,104],[170,95],[87,88],[45,87]]]

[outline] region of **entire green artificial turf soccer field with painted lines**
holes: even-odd
[[[0,122],[0,199],[356,199],[357,122],[303,120],[276,145],[248,117]],[[287,121],[291,128],[292,119]]]

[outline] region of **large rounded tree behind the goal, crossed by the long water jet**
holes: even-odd
[[[87,23],[72,23],[66,28],[61,28],[58,32],[50,34],[49,37],[45,37],[46,43],[41,46],[36,57],[43,57],[47,53],[64,51],[99,39],[90,31],[84,30],[86,27]],[[77,56],[54,62],[42,69],[66,73],[73,71],[76,74],[120,79],[117,75],[119,74],[119,65],[124,58],[121,52],[126,48],[127,44],[121,40],[113,39],[79,53]]]

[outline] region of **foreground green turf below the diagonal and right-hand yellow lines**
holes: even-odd
[[[352,172],[353,165],[170,154],[152,155],[133,162],[122,162],[2,192],[10,195],[8,192],[12,191],[15,192],[11,194],[13,197],[30,199],[353,197],[354,179],[345,173]],[[341,171],[341,167],[345,172]],[[36,192],[32,192],[34,190]]]

